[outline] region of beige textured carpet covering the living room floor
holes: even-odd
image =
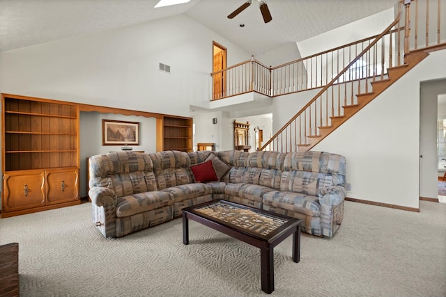
[[[176,219],[105,239],[84,203],[0,220],[0,244],[20,243],[21,296],[266,296],[259,249]],[[275,248],[271,296],[446,296],[446,204],[420,213],[346,202],[332,239],[302,234]]]

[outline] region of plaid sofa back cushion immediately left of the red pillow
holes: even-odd
[[[153,162],[153,172],[159,191],[194,182],[187,152],[168,150],[148,155]]]

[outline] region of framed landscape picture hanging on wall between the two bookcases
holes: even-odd
[[[139,122],[102,119],[102,145],[139,145]]]

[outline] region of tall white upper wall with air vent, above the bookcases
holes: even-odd
[[[0,92],[188,116],[190,104],[210,99],[213,40],[228,49],[228,65],[250,58],[178,15],[1,52]]]

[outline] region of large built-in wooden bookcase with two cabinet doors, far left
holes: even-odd
[[[79,204],[79,107],[1,95],[2,217]]]

